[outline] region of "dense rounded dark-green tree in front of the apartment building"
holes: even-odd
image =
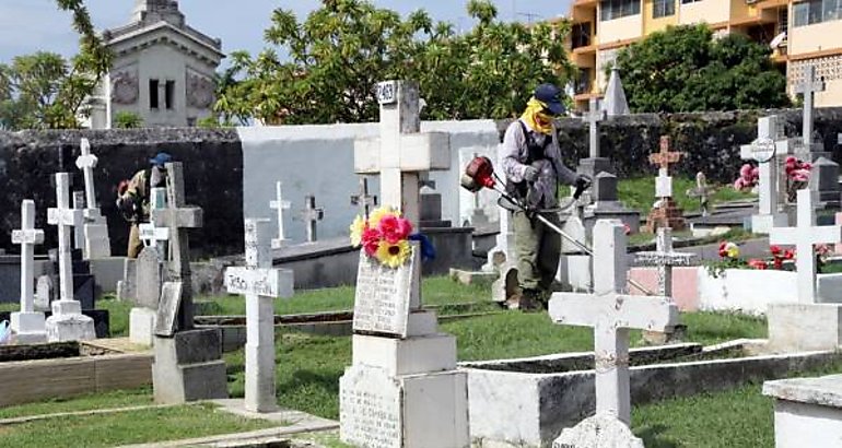
[[[620,51],[617,66],[635,113],[788,106],[786,78],[768,46],[705,25],[668,27]]]

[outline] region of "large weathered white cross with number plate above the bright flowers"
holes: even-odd
[[[354,142],[354,172],[381,176],[381,203],[400,209],[418,228],[419,174],[451,167],[451,135],[420,133],[418,84],[377,84],[379,138]]]

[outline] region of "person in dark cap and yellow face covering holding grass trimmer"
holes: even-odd
[[[552,84],[535,90],[526,110],[506,129],[503,138],[503,172],[506,192],[518,204],[503,199],[514,212],[515,257],[521,292],[506,300],[510,308],[539,310],[549,298],[561,256],[561,236],[536,215],[561,227],[559,182],[587,184],[587,177],[564,166],[553,117],[564,113],[561,91]]]

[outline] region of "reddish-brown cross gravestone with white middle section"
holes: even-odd
[[[655,233],[658,227],[670,227],[683,231],[687,226],[683,212],[673,200],[673,178],[669,176],[669,165],[681,160],[683,153],[669,150],[669,137],[660,137],[660,152],[650,154],[650,163],[658,165],[658,177],[655,179],[655,197],[658,198],[646,219],[646,229]]]

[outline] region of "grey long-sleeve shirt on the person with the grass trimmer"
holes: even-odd
[[[526,143],[527,134],[524,133],[518,119],[506,129],[503,138],[503,173],[510,182],[522,182],[524,180],[525,163],[529,156],[528,145]],[[538,169],[538,179],[536,179],[531,191],[527,196],[529,205],[540,209],[552,209],[558,207],[559,201],[556,197],[559,182],[573,185],[576,182],[576,173],[564,166],[561,161],[561,150],[556,129],[550,135],[537,132],[526,125],[527,133],[538,145],[542,145],[546,139],[551,139],[545,149],[543,160],[533,162],[531,166]]]

